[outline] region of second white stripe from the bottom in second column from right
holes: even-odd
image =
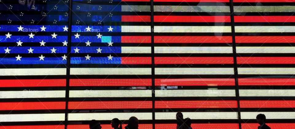
[[[231,97],[235,90],[155,90],[156,97]]]

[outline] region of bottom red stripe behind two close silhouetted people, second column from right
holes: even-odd
[[[239,124],[237,123],[198,123],[198,124],[192,123],[191,127],[193,129],[238,129]],[[155,129],[173,129],[173,128],[176,128],[176,124],[155,124]]]

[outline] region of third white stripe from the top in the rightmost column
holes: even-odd
[[[237,47],[237,53],[295,53],[295,47]]]

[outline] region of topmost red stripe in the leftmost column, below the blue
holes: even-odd
[[[0,87],[65,87],[65,81],[65,79],[7,79],[0,80]]]

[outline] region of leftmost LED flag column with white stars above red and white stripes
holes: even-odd
[[[0,128],[64,128],[69,1],[0,3]]]

